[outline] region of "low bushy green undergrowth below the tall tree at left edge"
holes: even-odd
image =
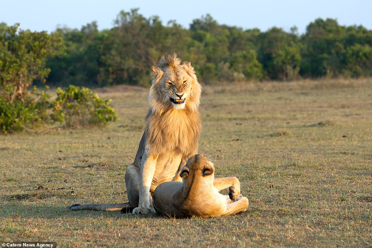
[[[24,100],[8,102],[0,97],[0,133],[12,133],[36,125],[56,121],[65,127],[104,125],[115,121],[117,115],[109,106],[110,99],[102,99],[88,88],[73,85],[57,89],[57,99],[50,102],[50,95],[34,87],[32,95]]]

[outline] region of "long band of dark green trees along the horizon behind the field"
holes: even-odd
[[[148,86],[149,68],[165,52],[192,62],[200,81],[293,80],[372,76],[372,31],[316,19],[299,35],[273,27],[266,32],[219,24],[210,15],[189,28],[164,25],[138,9],[121,11],[111,29],[96,22],[80,30],[58,28],[65,55],[46,61],[47,81],[55,85]]]

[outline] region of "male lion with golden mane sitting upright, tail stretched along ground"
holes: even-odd
[[[189,62],[164,55],[151,67],[145,132],[133,164],[125,172],[128,203],[73,205],[71,210],[155,212],[152,192],[163,182],[181,181],[179,172],[198,151],[202,124],[198,111],[202,87]]]

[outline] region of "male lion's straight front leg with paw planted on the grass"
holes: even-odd
[[[152,206],[152,198],[150,201],[150,188],[154,177],[156,161],[158,155],[146,155],[142,157],[141,173],[140,173],[140,192],[138,207],[133,210],[133,213],[145,214],[148,212],[155,213]]]

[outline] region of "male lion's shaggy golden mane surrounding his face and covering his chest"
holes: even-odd
[[[179,149],[189,157],[198,151],[202,122],[198,107],[202,87],[189,62],[181,62],[175,54],[164,55],[158,65],[151,68],[153,80],[149,90],[149,110],[145,119],[147,154],[164,154]],[[174,109],[165,101],[164,82],[170,74],[187,76],[189,96],[184,109]]]

